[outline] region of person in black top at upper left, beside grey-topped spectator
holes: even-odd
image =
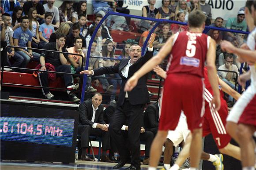
[[[42,24],[45,18],[45,8],[43,7],[43,4],[39,3],[39,0],[26,1],[23,5],[25,15],[28,15],[28,11],[31,7],[35,7],[37,9],[37,17],[39,18],[38,22],[39,24]]]

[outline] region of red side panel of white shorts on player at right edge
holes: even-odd
[[[256,127],[256,94],[245,107],[238,123],[248,124]]]

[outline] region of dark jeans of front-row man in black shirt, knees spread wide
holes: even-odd
[[[56,72],[71,73],[70,65],[59,65],[59,66],[55,67],[55,70],[56,70]],[[66,87],[71,86],[73,84],[72,75],[63,74],[63,78],[64,78]],[[40,82],[41,86],[49,87],[48,72],[39,73],[39,82]],[[45,95],[45,94],[48,94],[50,90],[49,90],[49,88],[43,88],[42,91],[43,91],[43,94]]]

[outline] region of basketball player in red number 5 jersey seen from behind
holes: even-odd
[[[158,134],[151,146],[149,170],[156,170],[166,141],[168,130],[174,130],[179,121],[181,110],[187,116],[188,128],[192,131],[193,147],[191,170],[199,165],[202,150],[202,126],[204,115],[203,67],[207,61],[209,81],[213,89],[212,106],[220,108],[220,93],[215,67],[216,44],[211,37],[203,34],[206,17],[201,11],[193,11],[188,16],[189,31],[171,36],[159,53],[151,58],[127,81],[124,90],[132,90],[138,79],[150,72],[154,66],[170,53],[167,65],[167,77],[162,94],[161,117]]]

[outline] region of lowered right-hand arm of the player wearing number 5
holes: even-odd
[[[215,104],[215,109],[220,108],[220,93],[218,90],[218,76],[215,67],[215,57],[216,57],[216,43],[213,39],[210,38],[209,49],[207,51],[207,72],[211,88],[213,90],[214,98],[212,103]]]

